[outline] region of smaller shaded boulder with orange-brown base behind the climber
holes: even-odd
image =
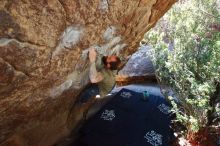
[[[128,84],[156,83],[156,74],[151,58],[152,48],[141,45],[137,52],[133,53],[125,66],[116,76],[117,86]]]

